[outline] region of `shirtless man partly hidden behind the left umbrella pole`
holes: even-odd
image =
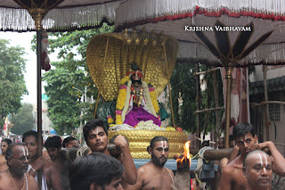
[[[22,141],[28,148],[28,174],[34,177],[37,181],[38,170],[43,169],[42,175],[42,189],[61,189],[61,183],[58,178],[59,175],[53,167],[53,164],[48,160],[44,160],[43,157],[39,157],[37,153],[37,132],[29,130],[23,134]]]

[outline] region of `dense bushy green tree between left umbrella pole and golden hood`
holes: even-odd
[[[76,73],[69,72],[64,66],[66,62],[53,62],[56,69],[45,73],[45,93],[49,97],[46,101],[50,120],[58,134],[71,133],[71,130],[79,126],[80,105],[77,101],[80,96],[71,95],[72,84],[70,81],[84,76],[83,70]]]

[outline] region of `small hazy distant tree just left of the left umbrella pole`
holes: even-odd
[[[23,135],[26,131],[35,128],[35,117],[33,115],[33,105],[22,103],[18,113],[11,116],[12,128],[10,131],[16,135]]]

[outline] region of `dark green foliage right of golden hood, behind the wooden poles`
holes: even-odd
[[[186,62],[177,62],[170,78],[171,95],[175,112],[175,125],[191,132],[197,132],[197,89],[194,75],[196,65]],[[200,70],[209,70],[208,66],[200,65]],[[216,72],[219,106],[223,106],[223,85],[219,72]],[[212,75],[206,74],[204,82],[206,89],[200,93],[200,109],[215,107],[214,84]],[[222,112],[219,112],[221,115]],[[200,113],[200,132],[216,128],[216,112]],[[220,116],[221,118],[221,116]],[[205,130],[206,128],[206,130]]]

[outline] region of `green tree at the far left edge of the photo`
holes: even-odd
[[[24,71],[26,60],[24,48],[9,46],[9,41],[0,39],[0,126],[8,114],[20,108],[21,95],[28,94]]]

